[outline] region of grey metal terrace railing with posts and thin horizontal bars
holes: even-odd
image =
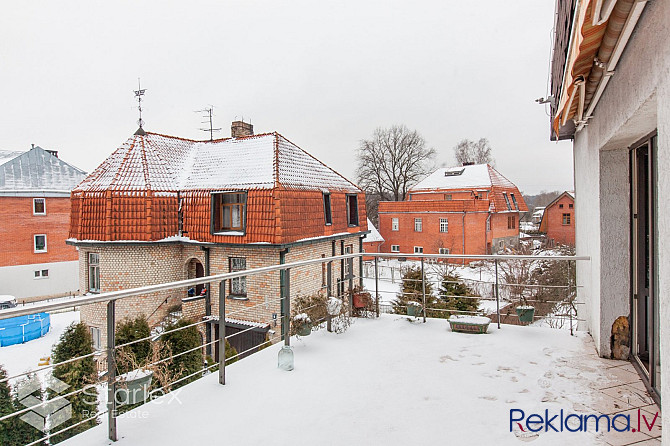
[[[420,267],[421,271],[421,279],[417,279],[418,281],[421,282],[421,300],[422,300],[422,311],[421,311],[421,317],[423,321],[426,321],[427,317],[427,311],[449,311],[449,312],[458,312],[457,310],[445,310],[443,308],[430,308],[428,305],[426,305],[427,302],[427,292],[426,292],[426,284],[428,282],[428,279],[426,278],[426,260],[432,261],[432,262],[449,262],[453,260],[463,260],[463,259],[468,259],[469,261],[486,261],[486,262],[492,262],[493,265],[493,273],[495,275],[495,280],[491,283],[491,298],[495,299],[496,302],[496,315],[497,315],[497,325],[498,328],[500,328],[501,324],[501,288],[503,287],[525,287],[524,289],[528,288],[533,288],[533,284],[516,284],[516,283],[506,283],[506,282],[501,282],[499,278],[499,262],[501,261],[567,261],[568,264],[572,261],[579,261],[579,260],[589,260],[589,257],[585,256],[526,256],[526,255],[455,255],[455,254],[400,254],[400,253],[395,253],[395,254],[380,254],[380,253],[353,253],[353,254],[343,254],[343,255],[337,255],[337,256],[332,256],[332,257],[321,257],[321,258],[315,258],[315,259],[309,259],[309,260],[303,260],[303,261],[297,261],[297,262],[291,262],[291,263],[284,263],[284,264],[278,264],[278,265],[272,265],[272,266],[266,266],[266,267],[261,267],[261,268],[253,268],[253,269],[248,269],[244,271],[236,271],[236,272],[230,272],[230,273],[222,273],[222,274],[214,274],[210,275],[207,277],[200,277],[196,279],[186,279],[186,280],[180,280],[180,281],[174,281],[174,282],[169,282],[169,283],[161,283],[161,284],[154,284],[154,285],[148,285],[148,286],[143,286],[143,287],[138,287],[138,288],[132,288],[132,289],[126,289],[126,290],[119,290],[119,291],[112,291],[112,292],[106,292],[106,293],[101,293],[98,295],[94,296],[84,296],[80,297],[74,300],[65,301],[65,302],[49,302],[49,303],[44,303],[44,304],[39,304],[39,305],[32,305],[30,307],[17,307],[17,308],[12,308],[12,309],[7,309],[7,310],[1,310],[0,311],[0,320],[2,319],[8,319],[16,316],[24,316],[28,314],[33,314],[36,312],[54,312],[54,311],[59,311],[59,310],[64,310],[64,309],[72,309],[73,308],[73,303],[76,304],[77,307],[82,308],[86,305],[92,305],[92,304],[106,304],[106,330],[107,330],[107,346],[104,349],[104,354],[106,354],[106,360],[107,360],[107,374],[105,377],[105,381],[103,382],[102,380],[99,380],[95,383],[88,384],[86,386],[83,386],[81,389],[76,389],[72,392],[66,393],[64,395],[58,395],[48,401],[41,402],[39,404],[34,404],[30,407],[26,407],[21,410],[17,410],[11,414],[3,415],[0,416],[0,422],[8,420],[12,417],[19,416],[22,414],[25,414],[27,412],[30,412],[34,409],[38,409],[41,406],[44,406],[48,403],[52,403],[55,400],[58,399],[64,399],[69,396],[77,395],[79,393],[85,392],[86,390],[96,387],[96,386],[102,386],[105,382],[107,385],[107,409],[104,411],[96,412],[93,416],[86,418],[82,421],[79,421],[76,424],[67,426],[64,429],[60,429],[57,432],[49,432],[46,434],[44,437],[40,438],[39,440],[36,440],[32,443],[28,443],[28,445],[33,445],[33,444],[38,444],[43,441],[48,441],[51,437],[55,435],[60,435],[69,429],[72,429],[74,427],[77,427],[87,421],[97,419],[98,416],[102,416],[104,414],[107,414],[107,422],[108,422],[108,437],[112,441],[116,441],[118,438],[118,433],[117,433],[117,425],[116,425],[116,418],[117,418],[117,402],[116,402],[116,390],[118,389],[118,386],[121,384],[120,378],[117,376],[117,354],[119,349],[123,347],[129,347],[133,344],[139,343],[139,342],[151,342],[154,340],[157,336],[164,336],[166,334],[180,331],[180,330],[185,330],[191,327],[196,327],[200,326],[203,324],[209,324],[213,320],[216,320],[216,316],[209,316],[209,317],[203,317],[202,320],[199,320],[194,323],[187,324],[185,326],[181,326],[178,328],[170,329],[167,331],[161,332],[159,335],[152,334],[151,336],[144,337],[142,339],[136,339],[131,342],[127,342],[124,344],[116,344],[115,337],[116,337],[116,323],[118,322],[117,317],[116,317],[116,303],[117,301],[120,301],[125,298],[129,297],[134,297],[134,296],[142,296],[142,295],[147,295],[150,293],[156,293],[159,291],[166,291],[166,290],[171,290],[175,288],[187,288],[199,284],[206,284],[208,287],[207,294],[211,292],[210,289],[210,284],[218,282],[219,284],[219,294],[218,294],[218,336],[216,339],[213,339],[209,342],[202,343],[201,345],[187,349],[183,352],[174,352],[173,354],[170,354],[167,358],[160,358],[157,361],[151,362],[149,364],[146,364],[146,366],[156,366],[161,363],[164,363],[166,361],[172,361],[175,358],[178,358],[180,356],[186,355],[192,351],[195,350],[202,350],[208,347],[215,348],[218,351],[218,362],[211,364],[211,365],[205,365],[201,370],[197,370],[196,372],[189,373],[186,376],[179,376],[178,379],[175,381],[169,382],[166,385],[161,385],[160,388],[154,389],[152,392],[156,391],[169,391],[171,389],[171,386],[178,384],[180,382],[183,382],[187,379],[191,378],[196,378],[199,376],[203,376],[206,373],[209,373],[212,369],[218,367],[218,380],[219,383],[222,385],[225,385],[226,383],[226,363],[231,361],[232,359],[237,359],[240,357],[245,356],[248,353],[251,353],[253,351],[258,350],[259,346],[254,346],[250,349],[247,349],[242,352],[237,352],[237,354],[233,357],[226,357],[226,340],[230,340],[234,338],[235,336],[242,335],[246,332],[249,332],[250,330],[253,330],[254,327],[250,327],[241,331],[238,331],[236,333],[233,333],[231,335],[226,335],[226,319],[227,318],[234,318],[239,313],[243,313],[245,311],[249,311],[250,309],[253,309],[254,307],[260,307],[260,306],[268,306],[270,304],[276,304],[280,308],[280,313],[281,315],[278,317],[278,320],[274,318],[270,320],[264,320],[262,323],[268,324],[269,326],[271,324],[276,324],[279,323],[281,327],[281,333],[279,336],[276,336],[274,338],[269,339],[270,342],[277,341],[277,340],[283,340],[285,345],[290,345],[290,338],[291,338],[291,270],[295,270],[297,268],[301,267],[306,267],[306,266],[311,266],[311,265],[319,265],[319,264],[325,264],[326,265],[326,277],[324,278],[325,282],[325,288],[326,292],[328,295],[336,294],[337,296],[341,298],[345,298],[345,296],[348,296],[349,302],[348,302],[348,311],[351,312],[353,305],[352,305],[352,298],[353,298],[353,290],[355,288],[354,282],[358,282],[357,285],[360,285],[362,287],[364,280],[366,277],[363,274],[364,270],[364,264],[363,264],[363,256],[365,257],[372,257],[374,260],[373,268],[374,268],[374,309],[373,313],[376,316],[379,316],[380,313],[385,313],[385,312],[390,312],[390,310],[397,310],[397,308],[394,308],[393,306],[380,302],[380,295],[384,292],[380,290],[380,280],[384,280],[384,278],[380,278],[380,259],[418,259],[418,264],[416,266]],[[354,274],[354,259],[358,258],[359,259],[359,272],[360,275],[356,276]],[[334,262],[341,262],[340,263],[340,278],[337,280],[337,290],[336,293],[332,293],[333,291],[333,285],[334,285],[334,275],[333,275],[333,265]],[[345,262],[348,263],[348,266],[344,268]],[[344,270],[347,270],[349,274],[345,275]],[[233,311],[227,311],[226,310],[226,286],[225,282],[231,279],[236,279],[236,278],[242,278],[242,277],[253,277],[257,275],[262,275],[262,274],[267,274],[267,273],[273,273],[273,272],[279,272],[280,274],[280,282],[281,282],[281,291],[279,293],[278,298],[274,299],[265,299],[262,302],[259,302],[254,305],[246,305],[242,309],[238,310],[233,310]],[[370,278],[370,277],[367,277]],[[407,281],[411,279],[403,279],[403,281]],[[462,280],[473,280],[473,279],[462,279]],[[480,283],[488,283],[486,281],[477,281]],[[573,290],[576,290],[576,285],[573,283],[568,283],[567,285],[561,285],[561,286],[554,286],[554,285],[537,285],[538,287],[541,286],[549,286],[549,287],[557,287],[557,288],[566,288],[567,289],[567,295],[568,295],[568,301],[569,304],[572,306],[575,304],[574,302],[574,294]],[[319,288],[323,290],[324,284],[320,284],[316,288]],[[345,291],[346,290],[348,291]],[[398,294],[398,293],[396,293]],[[401,291],[399,294],[403,294]],[[438,295],[439,297],[458,297],[458,298],[471,298],[471,299],[481,299],[481,296],[450,296],[450,295]],[[530,302],[531,300],[525,299],[524,301]],[[565,300],[560,300],[556,301],[557,303],[565,303]],[[402,307],[402,306],[400,306]],[[467,313],[467,312],[466,312]],[[572,318],[572,311],[570,313],[570,318]],[[542,316],[538,316],[542,317]],[[321,322],[321,321],[316,321],[316,322]],[[325,321],[328,324],[328,329],[330,330],[330,319]],[[572,331],[572,319],[571,319],[571,331]],[[91,354],[75,357],[75,358],[70,358],[65,361],[62,361],[60,363],[56,364],[49,364],[46,366],[38,367],[34,370],[28,371],[28,372],[23,372],[19,373],[14,376],[10,376],[7,378],[4,378],[0,380],[0,382],[7,382],[8,384],[11,383],[12,381],[16,380],[17,378],[21,378],[24,376],[27,376],[29,374],[36,374],[40,373],[49,369],[54,369],[58,366],[63,366],[66,364],[70,364],[76,361],[81,361],[87,358],[91,358],[93,356],[100,355],[100,352],[93,352]]]

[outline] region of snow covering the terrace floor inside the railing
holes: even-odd
[[[445,320],[382,315],[347,332],[292,339],[293,371],[280,345],[226,367],[117,420],[118,446],[518,445],[510,409],[593,413],[605,360],[584,333],[503,326],[485,336],[453,333]],[[274,410],[259,422],[259,408]],[[186,429],[181,434],[175,427]],[[222,440],[223,439],[223,440]],[[591,432],[540,432],[533,444],[598,443]],[[107,422],[64,443],[107,446]]]

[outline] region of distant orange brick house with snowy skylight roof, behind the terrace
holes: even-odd
[[[488,164],[440,168],[379,203],[384,252],[490,254],[519,242],[519,189]]]

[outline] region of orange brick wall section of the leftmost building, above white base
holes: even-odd
[[[78,259],[77,250],[65,244],[70,225],[70,198],[45,200],[46,215],[33,215],[32,197],[0,197],[0,266]],[[35,234],[46,234],[47,252],[34,252]]]

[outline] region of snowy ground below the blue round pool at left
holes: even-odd
[[[68,325],[79,322],[79,312],[69,311],[51,315],[49,333],[25,344],[0,347],[0,365],[9,376],[38,368],[40,358],[51,355],[51,347],[58,342]]]

